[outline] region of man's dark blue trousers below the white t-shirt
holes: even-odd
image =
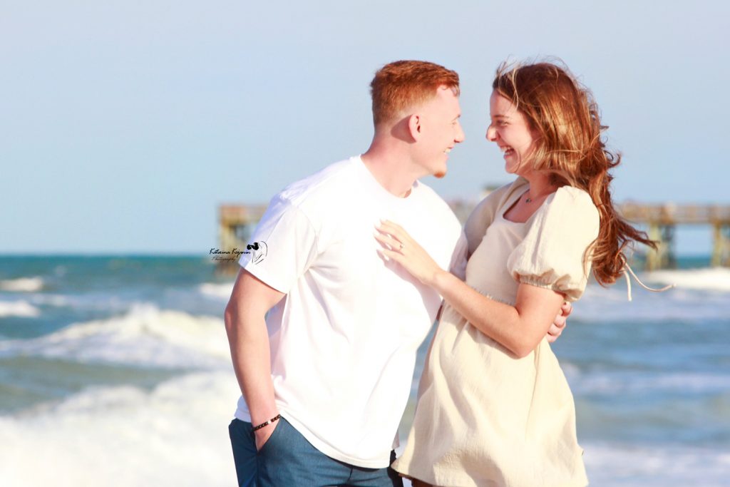
[[[403,487],[391,467],[368,469],[331,459],[284,418],[277,423],[260,451],[251,423],[234,419],[228,426],[240,487]],[[395,456],[391,452],[391,462]]]

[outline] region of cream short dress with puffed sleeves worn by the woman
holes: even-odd
[[[505,220],[526,190],[520,178],[469,217],[466,283],[512,305],[519,283],[575,301],[588,279],[583,256],[598,236],[598,210],[588,193],[566,186],[525,223]],[[588,484],[582,456],[573,397],[547,340],[515,358],[445,304],[393,467],[437,486],[572,487]]]

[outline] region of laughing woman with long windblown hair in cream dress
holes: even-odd
[[[572,394],[547,340],[564,300],[623,272],[632,240],[615,212],[591,93],[566,69],[497,70],[487,139],[514,183],[466,223],[466,282],[440,269],[395,223],[383,254],[445,299],[407,448],[393,467],[414,486],[585,486]]]

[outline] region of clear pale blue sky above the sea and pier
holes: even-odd
[[[552,55],[623,153],[619,202],[730,204],[728,18],[720,1],[6,1],[0,253],[207,253],[218,204],[366,149],[369,81],[401,58],[461,75],[466,141],[425,180],[442,196],[510,180],[484,139],[494,69]]]

